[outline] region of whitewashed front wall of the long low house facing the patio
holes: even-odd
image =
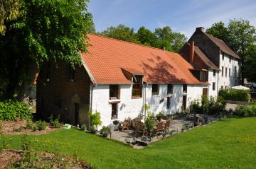
[[[174,114],[181,112],[182,99],[183,99],[183,85],[174,85],[174,92],[171,97],[171,107],[166,109],[167,105],[167,84],[159,85],[159,95],[151,95],[152,85],[149,84],[144,88],[143,95],[146,94],[146,99],[132,98],[132,85],[120,85],[120,103],[117,105],[117,120],[124,120],[127,117],[137,117],[138,115],[144,115],[143,105],[144,101],[151,107],[151,112],[157,114],[161,111],[165,111],[167,114]],[[144,93],[146,91],[146,93]],[[191,101],[195,98],[201,98],[203,93],[202,86],[188,85],[187,89],[187,108]],[[93,87],[92,91],[92,110],[96,110],[101,114],[102,125],[108,125],[113,122],[111,119],[112,105],[109,103],[110,86],[109,85],[97,85]],[[160,100],[164,99],[163,103]]]

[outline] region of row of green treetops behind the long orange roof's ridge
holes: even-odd
[[[134,28],[120,24],[117,27],[111,26],[98,34],[159,49],[165,47],[171,52],[178,52],[187,40],[185,35],[174,33],[169,26],[157,28],[154,33],[142,26],[135,33]]]

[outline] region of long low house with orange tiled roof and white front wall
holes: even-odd
[[[88,34],[88,53],[82,66],[46,66],[37,83],[37,113],[44,118],[60,114],[70,124],[88,124],[87,111],[98,111],[102,125],[114,119],[151,112],[181,112],[208,90],[206,81],[180,54],[108,37]],[[217,68],[216,68],[217,69]]]

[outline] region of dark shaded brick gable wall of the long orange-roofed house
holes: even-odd
[[[68,64],[50,66],[50,79],[46,80],[47,66],[40,71],[37,82],[37,116],[43,120],[53,114],[63,122],[75,125],[75,103],[79,104],[79,124],[87,124],[90,107],[90,78],[83,66],[75,68],[75,79],[69,81]]]

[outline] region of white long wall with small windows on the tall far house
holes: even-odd
[[[232,86],[240,85],[240,78],[238,76],[240,75],[241,67],[238,64],[238,59],[231,57],[231,62],[230,62],[229,55],[225,53],[224,53],[224,60],[222,58],[223,58],[222,52],[220,52],[220,70],[222,70],[222,66],[223,66],[224,74],[222,76],[220,71],[218,88],[220,89],[221,86],[223,86],[223,88],[225,88],[225,86],[227,86],[227,88],[231,88]],[[237,66],[236,76],[235,76],[235,66]],[[225,76],[225,68],[227,68],[227,71],[229,71],[230,69],[230,77],[228,72],[227,72],[227,76]]]

